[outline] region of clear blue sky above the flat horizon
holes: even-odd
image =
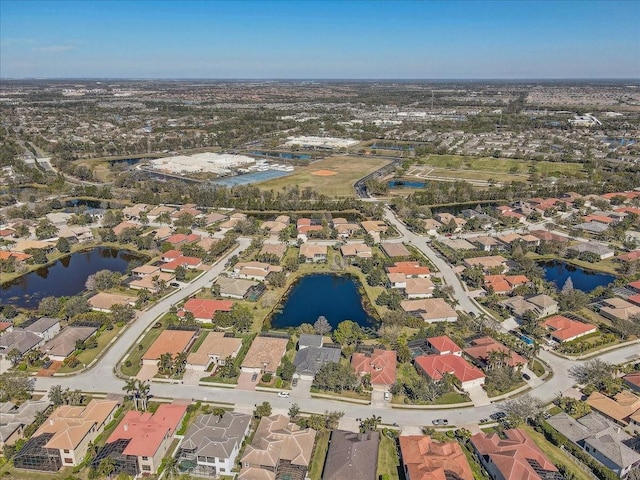
[[[0,77],[640,78],[640,0],[0,0]]]

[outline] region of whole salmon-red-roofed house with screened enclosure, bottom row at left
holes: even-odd
[[[186,404],[163,404],[153,414],[127,412],[103,447],[105,452],[111,451],[106,456],[115,460],[113,473],[131,476],[156,473],[186,413]],[[93,462],[96,466],[104,458],[100,453]]]

